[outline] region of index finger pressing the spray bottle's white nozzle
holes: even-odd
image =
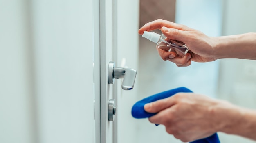
[[[144,31],[152,31],[155,29],[161,29],[163,26],[168,27],[168,28],[175,28],[175,29],[179,29],[179,30],[191,30],[191,28],[184,26],[182,24],[176,24],[173,22],[169,22],[167,20],[158,19],[158,20],[154,20],[152,22],[148,22],[147,24],[142,26],[139,29],[139,34],[142,35]]]

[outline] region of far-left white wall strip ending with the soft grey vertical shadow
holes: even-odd
[[[29,7],[0,0],[0,142],[36,140]]]

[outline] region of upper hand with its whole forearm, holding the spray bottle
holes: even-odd
[[[169,39],[182,41],[189,47],[189,52],[180,58],[175,52],[158,49],[163,60],[169,60],[178,67],[191,65],[191,61],[209,62],[220,58],[239,58],[256,60],[256,33],[209,37],[204,33],[166,20],[149,22],[139,29],[144,31],[161,29]]]

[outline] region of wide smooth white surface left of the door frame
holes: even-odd
[[[92,2],[0,0],[0,143],[94,143]]]

